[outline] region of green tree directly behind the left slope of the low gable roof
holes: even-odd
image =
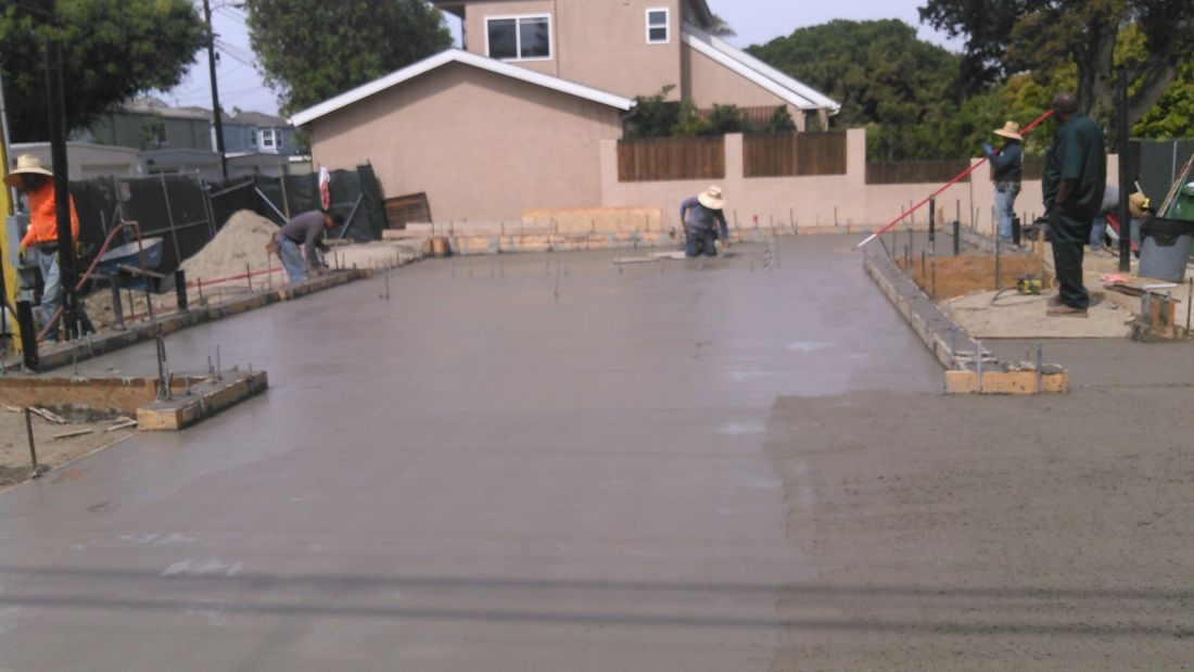
[[[250,43],[283,113],[451,47],[424,0],[244,0]]]

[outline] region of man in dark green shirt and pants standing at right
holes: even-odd
[[[1048,315],[1085,317],[1090,295],[1082,282],[1082,253],[1107,189],[1107,149],[1102,129],[1078,112],[1072,93],[1053,98],[1053,115],[1061,128],[1053,136],[1041,177],[1058,282]]]

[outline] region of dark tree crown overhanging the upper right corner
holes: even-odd
[[[1130,124],[1164,94],[1194,50],[1190,0],[929,0],[921,18],[967,37],[962,80],[972,91],[1072,63],[1079,109],[1106,115],[1115,101],[1114,68],[1122,64],[1134,82]],[[1131,30],[1144,38],[1134,57],[1118,49]]]

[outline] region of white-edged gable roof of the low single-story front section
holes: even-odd
[[[337,110],[369,98],[376,93],[381,93],[382,91],[398,86],[407,80],[414,79],[448,63],[462,63],[499,75],[505,75],[511,79],[542,86],[544,88],[550,88],[553,91],[559,91],[568,95],[585,98],[587,100],[592,100],[593,103],[609,105],[610,107],[617,107],[623,111],[629,110],[634,105],[634,101],[629,98],[622,98],[621,95],[615,95],[589,86],[528,70],[518,66],[503,63],[501,61],[496,61],[485,56],[478,56],[476,54],[461,51],[460,49],[448,49],[436,54],[435,56],[412,63],[400,70],[394,70],[383,78],[375,79],[374,81],[363,84],[351,91],[346,91],[336,98],[330,98],[318,105],[313,105],[306,110],[296,112],[293,117],[290,117],[290,123],[296,127],[310,123],[325,115],[330,115]]]

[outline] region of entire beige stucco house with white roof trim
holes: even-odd
[[[799,128],[838,105],[713,37],[704,0],[433,0],[450,49],[303,110],[318,166],[369,162],[386,196],[421,192],[436,221],[517,221],[605,205],[602,144],[635,95],[698,107],[788,106]]]

